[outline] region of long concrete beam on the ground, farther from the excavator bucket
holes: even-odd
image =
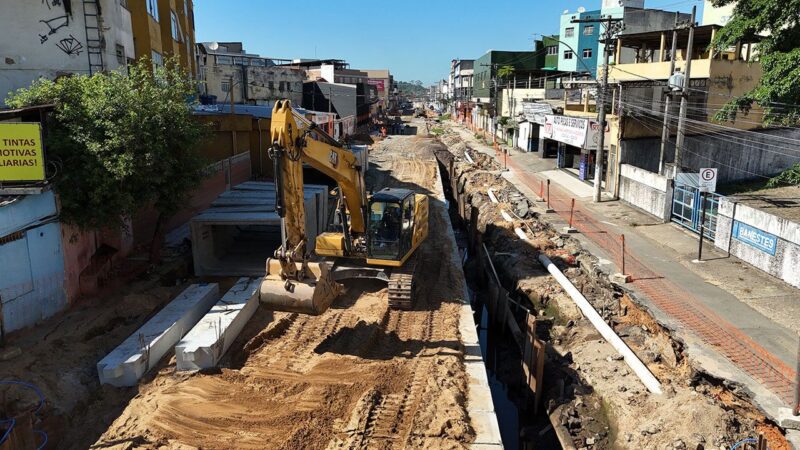
[[[134,386],[219,299],[216,283],[193,284],[97,363],[101,384]]]

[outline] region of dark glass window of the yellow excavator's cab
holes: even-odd
[[[402,225],[400,203],[370,203],[369,256],[375,259],[400,259]]]

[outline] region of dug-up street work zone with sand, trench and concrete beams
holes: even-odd
[[[385,188],[427,196],[413,284],[359,276],[313,314],[267,307],[261,279],[281,243],[269,228],[281,202],[258,209],[274,188],[248,182],[216,205],[249,214],[249,228],[212,208],[198,216],[207,229],[192,228],[192,245],[168,249],[162,265],[13,336],[3,378],[31,389],[2,386],[0,406],[25,426],[0,449],[36,448],[37,431],[39,448],[67,449],[680,450],[755,435],[792,448],[501,162],[455,126],[405,123],[408,135],[370,140],[361,161],[373,199]],[[305,228],[319,249],[328,211],[344,207],[333,180],[314,182],[306,211],[325,214],[306,215]],[[191,247],[209,233],[219,235],[199,260]],[[397,290],[408,286],[404,303]]]

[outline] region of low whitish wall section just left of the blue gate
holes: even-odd
[[[619,198],[666,222],[672,208],[672,182],[657,173],[622,164]]]

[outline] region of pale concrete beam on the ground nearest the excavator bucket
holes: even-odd
[[[261,278],[240,278],[175,346],[178,370],[215,367],[258,309]]]

